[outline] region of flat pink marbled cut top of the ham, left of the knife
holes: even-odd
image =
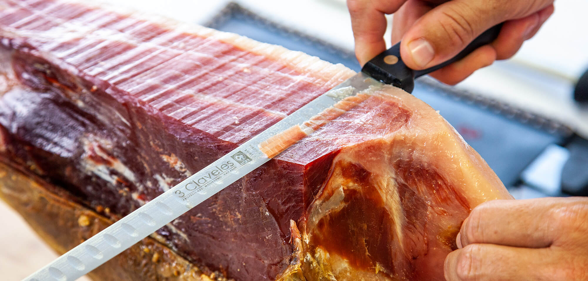
[[[232,143],[242,143],[352,74],[278,46],[243,49],[252,40],[206,28],[67,1],[2,2],[2,33],[22,39],[14,45],[31,45],[72,74],[96,82],[93,86],[107,83],[119,99],[130,94]]]

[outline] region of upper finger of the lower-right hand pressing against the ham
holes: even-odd
[[[557,238],[552,209],[566,204],[559,198],[493,200],[470,212],[458,234],[459,246],[493,243],[543,248]]]

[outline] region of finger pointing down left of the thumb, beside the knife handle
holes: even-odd
[[[347,5],[351,16],[351,28],[355,38],[355,55],[359,64],[386,49],[384,33],[386,32],[386,13],[396,12],[406,0],[348,0]]]

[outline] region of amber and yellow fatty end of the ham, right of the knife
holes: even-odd
[[[348,112],[363,115],[324,128],[352,141],[307,213],[302,267],[311,280],[445,280],[443,260],[470,210],[512,197],[425,103],[393,87],[369,94]],[[363,127],[368,119],[377,125]],[[322,133],[305,140],[326,141]]]

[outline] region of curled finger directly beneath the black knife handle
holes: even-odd
[[[476,70],[492,65],[495,60],[496,50],[486,45],[474,50],[463,59],[430,73],[430,76],[445,84],[455,85]]]

